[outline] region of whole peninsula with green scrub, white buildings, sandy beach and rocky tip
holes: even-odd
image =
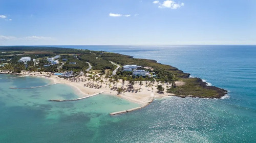
[[[221,98],[227,93],[154,60],[87,49],[0,46],[0,70],[1,73],[41,76],[54,83],[69,84],[83,93],[79,99],[104,92],[142,107],[154,98],[166,96]]]

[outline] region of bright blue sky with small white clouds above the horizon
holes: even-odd
[[[0,45],[256,44],[255,0],[3,0]]]

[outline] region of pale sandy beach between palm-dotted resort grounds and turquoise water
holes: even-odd
[[[122,99],[137,103],[139,105],[143,105],[145,103],[150,102],[152,100],[151,99],[152,96],[154,96],[154,98],[173,96],[173,94],[158,94],[158,93],[154,92],[154,91],[156,91],[156,89],[153,90],[153,92],[152,92],[152,90],[148,90],[147,87],[143,86],[143,85],[145,85],[145,83],[143,83],[143,85],[141,86],[140,92],[137,92],[137,93],[125,92],[125,93],[117,95],[117,91],[112,91],[111,88],[109,87],[108,83],[102,83],[102,88],[95,89],[95,88],[84,87],[84,84],[88,83],[88,81],[72,82],[72,81],[66,80],[64,78],[58,77],[57,75],[53,75],[53,73],[48,73],[48,72],[27,72],[26,71],[26,72],[22,72],[20,74],[16,74],[16,73],[10,73],[9,71],[0,71],[0,73],[1,74],[14,74],[14,75],[46,78],[46,79],[51,80],[50,84],[53,84],[53,83],[67,84],[71,88],[74,89],[74,91],[77,93],[78,98],[88,98],[96,93],[104,93],[104,94],[120,97]],[[145,82],[145,81],[143,81],[143,82]],[[98,84],[100,84],[100,83],[98,83]],[[155,85],[157,85],[157,83],[155,83]],[[117,85],[115,85],[115,86],[121,87],[122,86],[121,81],[119,81],[117,83]],[[134,87],[136,89],[140,88],[138,84],[135,84]],[[55,100],[55,99],[51,99],[51,100]],[[56,100],[58,100],[58,99],[56,99]]]

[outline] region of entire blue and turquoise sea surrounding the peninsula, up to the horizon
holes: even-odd
[[[256,46],[55,47],[153,59],[229,92],[223,99],[169,97],[111,117],[110,111],[136,104],[108,95],[49,103],[49,98],[69,99],[76,95],[61,84],[13,91],[8,88],[50,81],[0,75],[0,142],[256,142]]]

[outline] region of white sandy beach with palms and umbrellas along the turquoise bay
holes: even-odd
[[[0,73],[8,73],[8,71],[0,71]],[[113,83],[111,83],[111,87],[109,86],[109,80],[105,79],[104,77],[102,77],[103,79],[103,83],[101,88],[90,88],[90,85],[93,85],[93,81],[90,81],[88,79],[88,77],[77,77],[75,79],[77,80],[69,80],[69,79],[64,79],[62,77],[58,77],[57,75],[54,75],[52,73],[47,73],[47,72],[27,72],[27,71],[23,71],[22,73],[20,73],[19,75],[29,75],[29,76],[36,76],[36,77],[45,77],[48,79],[51,79],[53,81],[53,83],[62,83],[62,84],[68,84],[71,87],[73,87],[75,89],[76,92],[80,92],[82,94],[78,94],[81,97],[87,97],[87,96],[92,96],[95,95],[97,93],[102,93],[104,92],[105,94],[110,94],[110,95],[114,95],[114,96],[118,96],[121,97],[123,99],[129,100],[131,102],[135,102],[138,104],[145,104],[148,103],[150,101],[152,101],[152,98],[162,98],[162,97],[166,97],[172,94],[158,94],[157,93],[157,89],[156,86],[157,84],[161,84],[161,83],[157,83],[154,82],[152,83],[152,87],[153,87],[153,91],[152,88],[148,88],[146,87],[146,81],[142,81],[142,85],[140,87],[139,82],[135,82],[134,84],[134,89],[140,89],[139,92],[122,92],[121,94],[117,95],[117,91],[116,90],[111,90],[112,87],[117,87],[117,88],[121,88],[123,86],[123,88],[128,88],[128,81],[125,81],[124,85],[122,85],[122,81],[119,80],[115,85],[113,85]],[[85,79],[87,81],[85,81]],[[148,81],[149,82],[149,81]],[[84,86],[84,84],[88,84],[89,86]],[[100,82],[94,82],[94,85],[101,85]],[[163,88],[166,89],[166,85],[167,84],[162,84]],[[167,85],[168,86],[168,85]]]

